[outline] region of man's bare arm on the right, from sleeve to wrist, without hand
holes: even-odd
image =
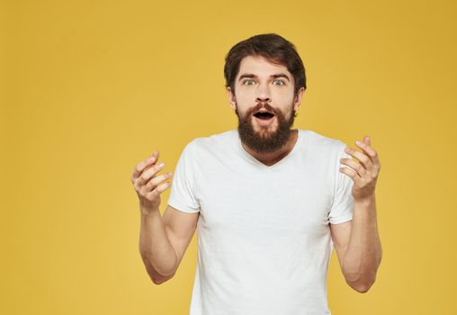
[[[354,201],[353,220],[330,224],[330,229],[346,283],[366,293],[376,279],[382,256],[374,196]]]

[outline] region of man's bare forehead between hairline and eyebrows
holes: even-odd
[[[291,77],[291,73],[287,70],[286,66],[273,64],[262,56],[246,56],[241,59],[237,77],[246,73],[259,77],[284,73]]]

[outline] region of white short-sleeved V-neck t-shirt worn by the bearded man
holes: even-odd
[[[189,142],[168,204],[200,211],[190,315],[330,314],[329,223],[353,218],[345,143],[299,130],[291,152],[265,166],[237,130]]]

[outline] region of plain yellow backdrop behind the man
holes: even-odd
[[[453,1],[2,2],[2,314],[186,314],[196,236],[175,278],[139,256],[134,166],[236,129],[234,44],[276,32],[308,89],[295,128],[381,157],[383,258],[356,293],[328,274],[335,315],[455,314],[457,5]],[[165,210],[169,190],[162,194]],[[235,302],[235,301],[234,301]]]

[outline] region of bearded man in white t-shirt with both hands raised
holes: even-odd
[[[360,293],[381,263],[379,157],[368,137],[359,151],[291,130],[305,68],[281,36],[237,43],[224,74],[238,128],[186,145],[163,218],[160,193],[172,175],[156,175],[164,167],[158,151],[133,171],[148,275],[155,284],[171,279],[198,228],[191,315],[330,314],[333,248],[346,283]]]

